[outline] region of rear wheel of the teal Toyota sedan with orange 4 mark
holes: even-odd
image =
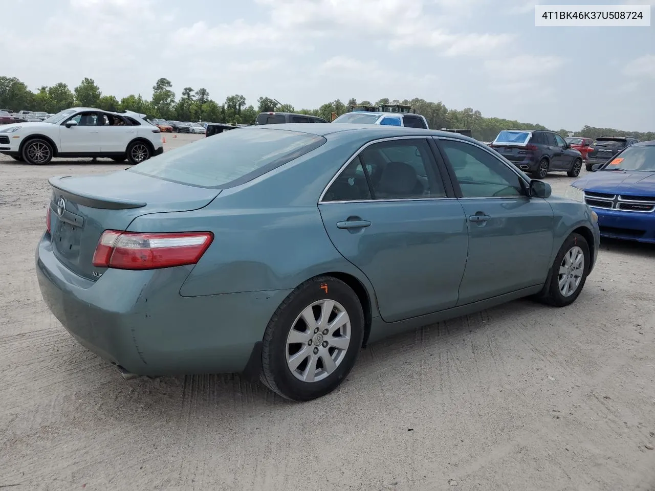
[[[350,373],[363,339],[364,312],[354,291],[331,276],[307,280],[266,327],[261,381],[293,401],[322,397]]]

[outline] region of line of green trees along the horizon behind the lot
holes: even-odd
[[[330,120],[331,114],[342,115],[348,107],[356,104],[381,105],[400,103],[411,105],[417,113],[428,120],[430,128],[472,130],[473,136],[481,141],[493,140],[501,130],[546,130],[545,126],[535,123],[519,122],[503,118],[483,117],[480,111],[466,107],[458,111],[448,109],[441,102],[428,102],[424,99],[357,101],[350,99],[342,102],[337,99],[327,102],[318,109],[296,109],[293,105],[280,103],[274,98],[260,97],[257,105],[246,105],[246,98],[241,94],[227,96],[223,103],[210,98],[206,88],[194,90],[185,87],[179,98],[172,90],[173,84],[166,78],[159,79],[153,86],[153,94],[147,99],[141,94],[130,94],[118,100],[115,96],[102,94],[100,87],[93,79],[84,77],[80,84],[71,90],[64,82],[52,86],[41,86],[33,92],[16,77],[0,76],[0,109],[12,111],[46,111],[56,113],[69,107],[97,107],[105,111],[122,111],[124,109],[142,113],[151,118],[180,121],[210,121],[233,124],[254,124],[257,114],[267,111],[302,113]],[[556,130],[562,136],[568,136],[569,131],[561,128]],[[631,132],[615,128],[595,128],[584,126],[574,132],[576,136],[597,138],[602,135],[634,136],[641,141],[655,139],[655,132]]]

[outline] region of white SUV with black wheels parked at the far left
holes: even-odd
[[[138,164],[163,151],[159,128],[131,111],[73,107],[42,122],[0,127],[0,153],[29,164],[48,164],[52,157],[127,158]]]

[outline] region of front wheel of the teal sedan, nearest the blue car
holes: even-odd
[[[571,234],[555,257],[550,280],[544,285],[540,300],[555,307],[571,305],[587,281],[590,264],[591,255],[586,238],[580,234]]]

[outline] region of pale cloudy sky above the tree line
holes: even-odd
[[[419,97],[555,130],[654,130],[655,23],[534,27],[535,3],[6,0],[0,75],[33,90],[91,77],[119,99],[166,77],[217,101]]]

